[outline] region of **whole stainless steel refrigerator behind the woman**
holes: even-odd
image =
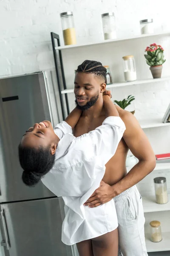
[[[57,82],[51,72],[0,79],[0,231],[5,256],[72,256],[61,241],[62,198],[41,182],[21,180],[17,147],[35,122],[60,121]]]

